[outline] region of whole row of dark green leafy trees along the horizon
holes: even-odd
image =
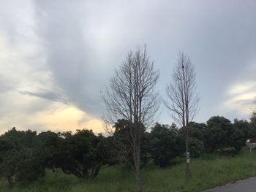
[[[14,182],[31,183],[45,175],[62,169],[65,174],[80,178],[94,178],[102,165],[126,163],[134,166],[129,122],[118,120],[109,137],[96,136],[91,130],[55,133],[45,131],[17,131],[12,128],[0,137],[0,177],[10,185]],[[168,166],[185,152],[185,130],[156,123],[150,131],[142,125],[141,166],[153,159],[154,164]],[[192,158],[226,147],[241,150],[246,139],[256,137],[256,118],[230,120],[214,116],[206,123],[189,123],[189,148]]]

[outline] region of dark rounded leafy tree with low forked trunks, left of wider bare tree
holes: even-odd
[[[63,135],[64,139],[59,140],[58,152],[53,159],[54,166],[77,177],[96,177],[103,163],[98,147],[99,137],[86,129],[77,130],[74,135]]]

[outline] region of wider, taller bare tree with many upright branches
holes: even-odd
[[[159,72],[154,69],[153,61],[147,55],[146,46],[133,53],[130,51],[115,74],[103,100],[108,110],[105,119],[115,123],[118,119],[129,121],[129,134],[132,138],[133,160],[138,191],[142,191],[140,182],[140,129],[154,120],[159,109],[159,96],[154,91]]]

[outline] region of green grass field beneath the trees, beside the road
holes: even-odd
[[[256,153],[253,152],[253,166],[256,169]],[[181,161],[180,159],[176,160]],[[234,180],[241,180],[255,175],[252,169],[249,150],[241,150],[236,155],[203,155],[192,159],[191,177],[184,174],[185,164],[177,163],[165,169],[152,163],[142,169],[143,191],[203,191]],[[124,164],[104,166],[95,180],[78,180],[72,175],[47,172],[45,177],[29,186],[15,184],[9,187],[7,181],[0,181],[0,191],[135,191],[134,173]]]

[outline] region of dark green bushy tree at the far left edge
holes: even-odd
[[[34,147],[36,135],[12,128],[0,137],[0,177],[6,177],[10,185],[14,178],[29,183],[45,174],[42,153]]]

